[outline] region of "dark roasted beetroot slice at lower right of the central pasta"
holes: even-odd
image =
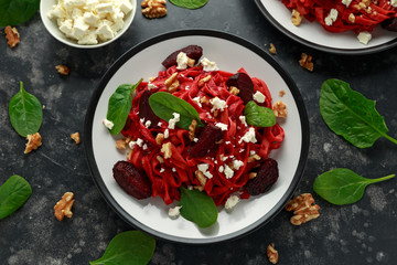
[[[257,176],[245,186],[251,195],[258,195],[270,190],[279,177],[278,165],[275,159],[267,158],[260,166]]]

